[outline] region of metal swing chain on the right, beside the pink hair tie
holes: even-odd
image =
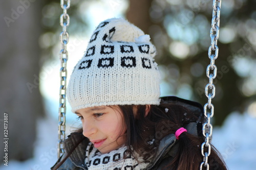
[[[204,116],[207,118],[206,123],[203,125],[203,135],[205,141],[201,145],[201,153],[204,157],[203,162],[200,165],[200,170],[203,167],[209,169],[208,156],[210,155],[211,145],[209,138],[212,135],[212,125],[210,124],[210,118],[214,116],[214,105],[211,104],[211,99],[215,96],[215,85],[213,84],[214,79],[217,76],[217,66],[215,60],[219,55],[219,47],[217,46],[219,38],[220,28],[220,13],[221,13],[221,0],[213,0],[212,20],[210,29],[211,45],[208,50],[208,57],[210,64],[207,66],[206,75],[209,78],[209,83],[205,86],[205,95],[208,98],[208,102],[204,105]],[[215,51],[215,52],[214,52]]]

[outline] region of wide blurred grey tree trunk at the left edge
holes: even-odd
[[[0,2],[0,133],[3,139],[5,112],[8,113],[9,160],[23,161],[33,156],[36,119],[44,115],[38,88],[38,37],[42,32],[38,11],[43,5],[42,1]],[[3,142],[0,148],[3,158]]]

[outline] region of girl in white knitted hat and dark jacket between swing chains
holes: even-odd
[[[64,141],[52,169],[199,169],[203,108],[159,98],[150,36],[120,18],[100,23],[67,89],[82,129]],[[227,169],[214,147],[210,169]]]

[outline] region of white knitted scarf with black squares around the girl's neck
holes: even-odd
[[[121,147],[107,154],[101,154],[90,142],[86,150],[85,163],[89,170],[140,170],[145,169],[149,163],[144,163],[141,157],[137,157],[140,163],[133,156],[123,159],[127,147]],[[142,163],[141,163],[142,162]]]

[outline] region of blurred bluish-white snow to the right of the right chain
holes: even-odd
[[[212,143],[222,154],[230,170],[256,169],[256,118],[232,113],[224,126],[215,129]]]

